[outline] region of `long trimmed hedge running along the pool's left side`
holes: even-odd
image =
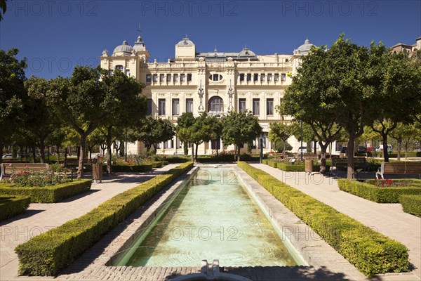
[[[164,188],[191,169],[192,162],[155,176],[145,183],[120,193],[79,218],[49,230],[18,245],[20,275],[56,275],[109,230]]]

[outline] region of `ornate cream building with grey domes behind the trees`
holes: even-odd
[[[152,117],[170,119],[175,124],[183,112],[198,116],[223,116],[230,110],[236,112],[250,110],[258,117],[263,132],[264,151],[273,150],[268,140],[271,122],[290,122],[290,117],[279,115],[276,105],[280,105],[285,89],[290,85],[288,74],[293,74],[300,65],[300,56],[306,55],[312,44],[305,43],[293,54],[257,55],[244,47],[238,53],[196,51],[192,40],[183,38],[175,44],[175,58],[166,63],[149,62],[149,52],[139,36],[133,46],[127,41],[117,46],[112,54],[105,50],[100,57],[101,67],[114,72],[121,70],[145,84],[144,93],[148,98],[148,112]],[[253,143],[253,152],[257,152]],[[295,138],[288,140],[297,151],[299,143]],[[128,145],[128,152],[139,154],[141,142]],[[199,154],[213,154],[215,150],[233,150],[234,146],[224,146],[222,142],[203,143]],[[244,151],[247,145],[244,144]],[[183,152],[182,143],[175,136],[159,145],[157,153],[173,155]]]

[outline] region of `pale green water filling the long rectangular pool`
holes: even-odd
[[[118,266],[295,266],[232,169],[200,169]],[[139,244],[140,243],[140,244]]]

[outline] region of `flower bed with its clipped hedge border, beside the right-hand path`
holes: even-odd
[[[421,181],[416,179],[367,180],[338,179],[340,190],[377,203],[399,203],[399,195],[421,195]]]

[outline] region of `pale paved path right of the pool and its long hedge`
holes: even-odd
[[[421,218],[403,212],[401,204],[379,204],[351,195],[340,190],[334,178],[320,174],[308,176],[304,172],[285,172],[265,164],[251,165],[406,245],[414,267],[413,275],[396,280],[421,280]]]

